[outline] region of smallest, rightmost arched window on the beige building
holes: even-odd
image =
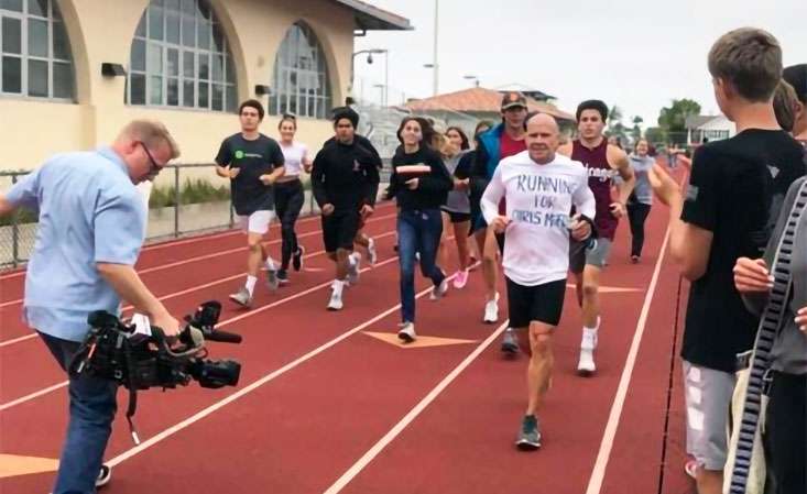
[[[269,112],[325,119],[330,101],[325,53],[310,28],[297,22],[286,32],[274,59]]]

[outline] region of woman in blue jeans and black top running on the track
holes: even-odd
[[[430,147],[435,132],[425,119],[406,117],[397,130],[401,141],[392,157],[388,196],[397,202],[397,243],[401,264],[401,329],[404,342],[415,340],[415,253],[421,272],[432,278],[432,299],[448,289],[446,274],[435,263],[443,234],[440,206],[454,186],[439,154]]]

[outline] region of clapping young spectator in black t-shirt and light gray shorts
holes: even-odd
[[[737,353],[754,343],[757,320],[733,284],[739,257],[759,257],[789,185],[805,174],[799,144],[782,131],[772,98],[782,51],[755,29],[723,35],[709,53],[721,111],[738,134],[700,146],[686,197],[655,165],[651,183],[670,206],[669,249],[691,281],[681,356],[687,400],[687,450],[700,494],[722,492]],[[754,77],[748,77],[753,74]]]

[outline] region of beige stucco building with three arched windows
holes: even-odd
[[[135,118],[165,122],[182,162],[209,163],[248,98],[271,110],[264,133],[291,111],[316,149],[347,96],[353,36],[410,29],[356,0],[2,0],[0,17],[6,171],[110,142]]]

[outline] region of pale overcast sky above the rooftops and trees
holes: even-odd
[[[368,0],[403,15],[414,31],[371,31],[356,50],[390,51],[390,103],[432,95],[434,0]],[[717,112],[706,56],[724,32],[762,28],[779,40],[785,66],[807,63],[807,0],[439,0],[439,91],[519,83],[578,102],[603,99],[654,125],[673,98]],[[378,100],[383,55],[356,58],[356,92]]]

